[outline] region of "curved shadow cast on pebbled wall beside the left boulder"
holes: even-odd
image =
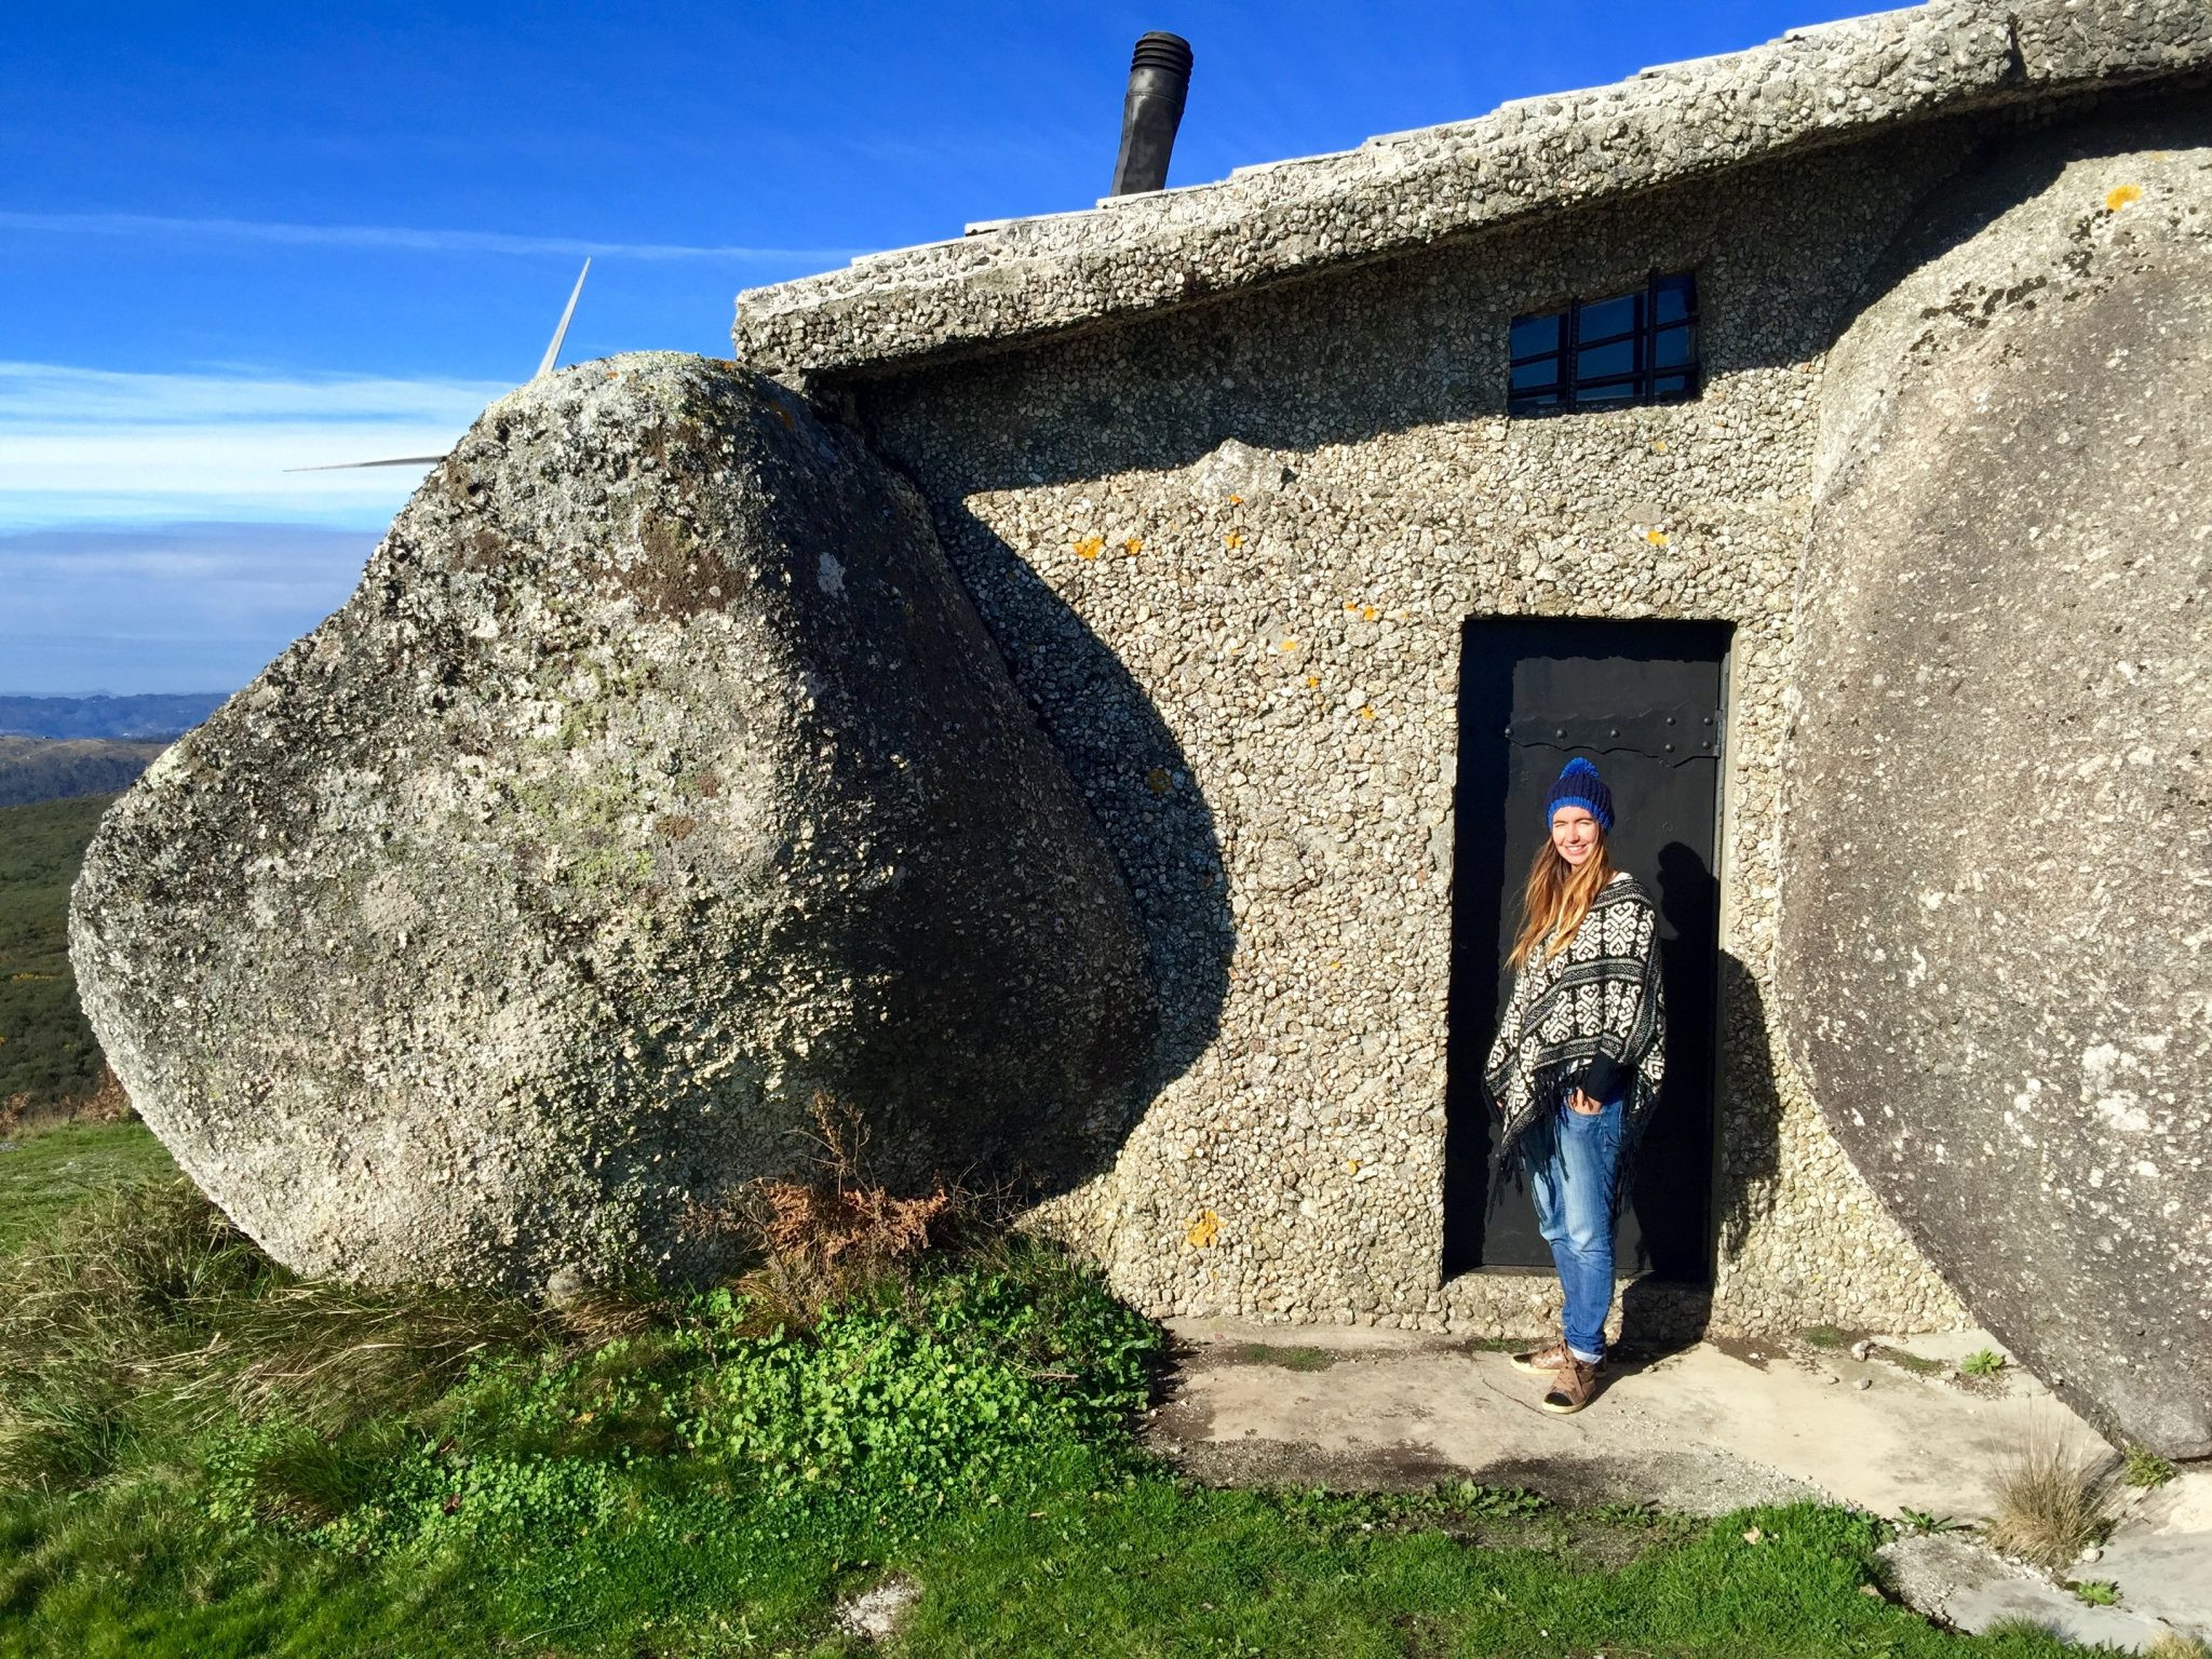
[[[938,538],[1084,792],[1144,931],[1159,1042],[1113,1135],[1119,1148],[1221,1029],[1237,929],[1214,814],[1150,695],[1029,562],[958,504],[938,507]]]

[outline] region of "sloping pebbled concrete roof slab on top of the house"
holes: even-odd
[[[1172,310],[1599,197],[2212,66],[2203,0],[1931,0],[737,299],[739,361],[865,374]]]

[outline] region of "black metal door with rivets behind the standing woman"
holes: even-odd
[[[1460,641],[1444,1270],[1551,1267],[1526,1181],[1489,1208],[1493,1115],[1482,1060],[1511,980],[1520,889],[1546,841],[1544,794],[1568,757],[1613,790],[1613,860],[1659,905],[1666,1091],[1615,1241],[1619,1272],[1712,1276],[1712,1086],[1719,1044],[1714,834],[1728,626],[1500,617]]]

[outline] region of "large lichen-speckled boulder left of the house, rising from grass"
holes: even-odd
[[[106,816],[71,956],[192,1179],[369,1281],[708,1272],[816,1091],[894,1188],[1073,1181],[1155,1024],[920,500],[672,354],[487,409]]]

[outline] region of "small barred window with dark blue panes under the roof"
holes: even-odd
[[[1513,319],[1511,414],[1697,396],[1697,276]]]

